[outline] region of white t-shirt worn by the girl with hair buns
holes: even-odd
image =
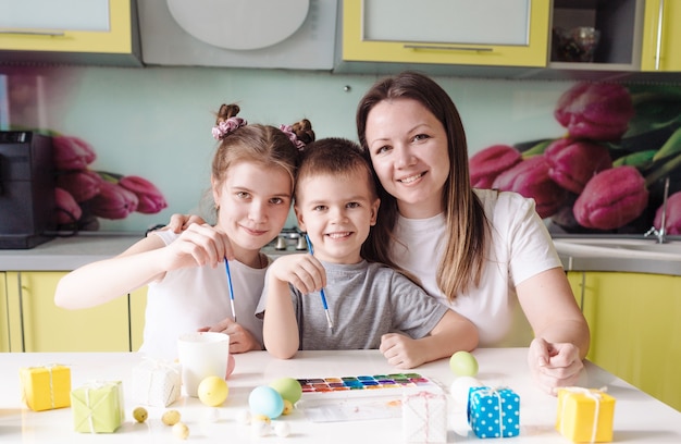
[[[178,235],[170,231],[153,232],[166,245]],[[256,318],[256,306],[264,284],[264,269],[252,269],[236,260],[230,261],[234,307],[237,322],[262,344],[262,321]],[[165,274],[149,284],[144,343],[139,351],[173,360],[177,357],[177,337],[212,326],[232,318],[230,287],[224,263],[184,268]]]

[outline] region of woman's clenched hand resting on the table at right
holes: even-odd
[[[554,344],[541,337],[530,344],[528,365],[538,386],[554,396],[557,387],[575,385],[584,368],[574,344]]]

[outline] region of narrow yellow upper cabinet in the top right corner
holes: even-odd
[[[642,71],[681,71],[681,2],[646,0]]]

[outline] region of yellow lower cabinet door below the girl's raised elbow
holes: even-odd
[[[18,304],[21,322],[11,351],[128,351],[128,297],[88,309],[59,308],[54,289],[65,273],[5,272],[8,297],[13,311]]]

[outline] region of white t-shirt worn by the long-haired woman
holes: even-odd
[[[445,217],[398,217],[391,257],[413,273],[431,296],[470,319],[480,333],[480,346],[527,346],[532,331],[518,304],[516,285],[548,269],[561,267],[550,234],[534,209],[534,200],[516,193],[475,189],[491,224],[492,240],[480,287],[449,303],[437,287],[443,255]]]

